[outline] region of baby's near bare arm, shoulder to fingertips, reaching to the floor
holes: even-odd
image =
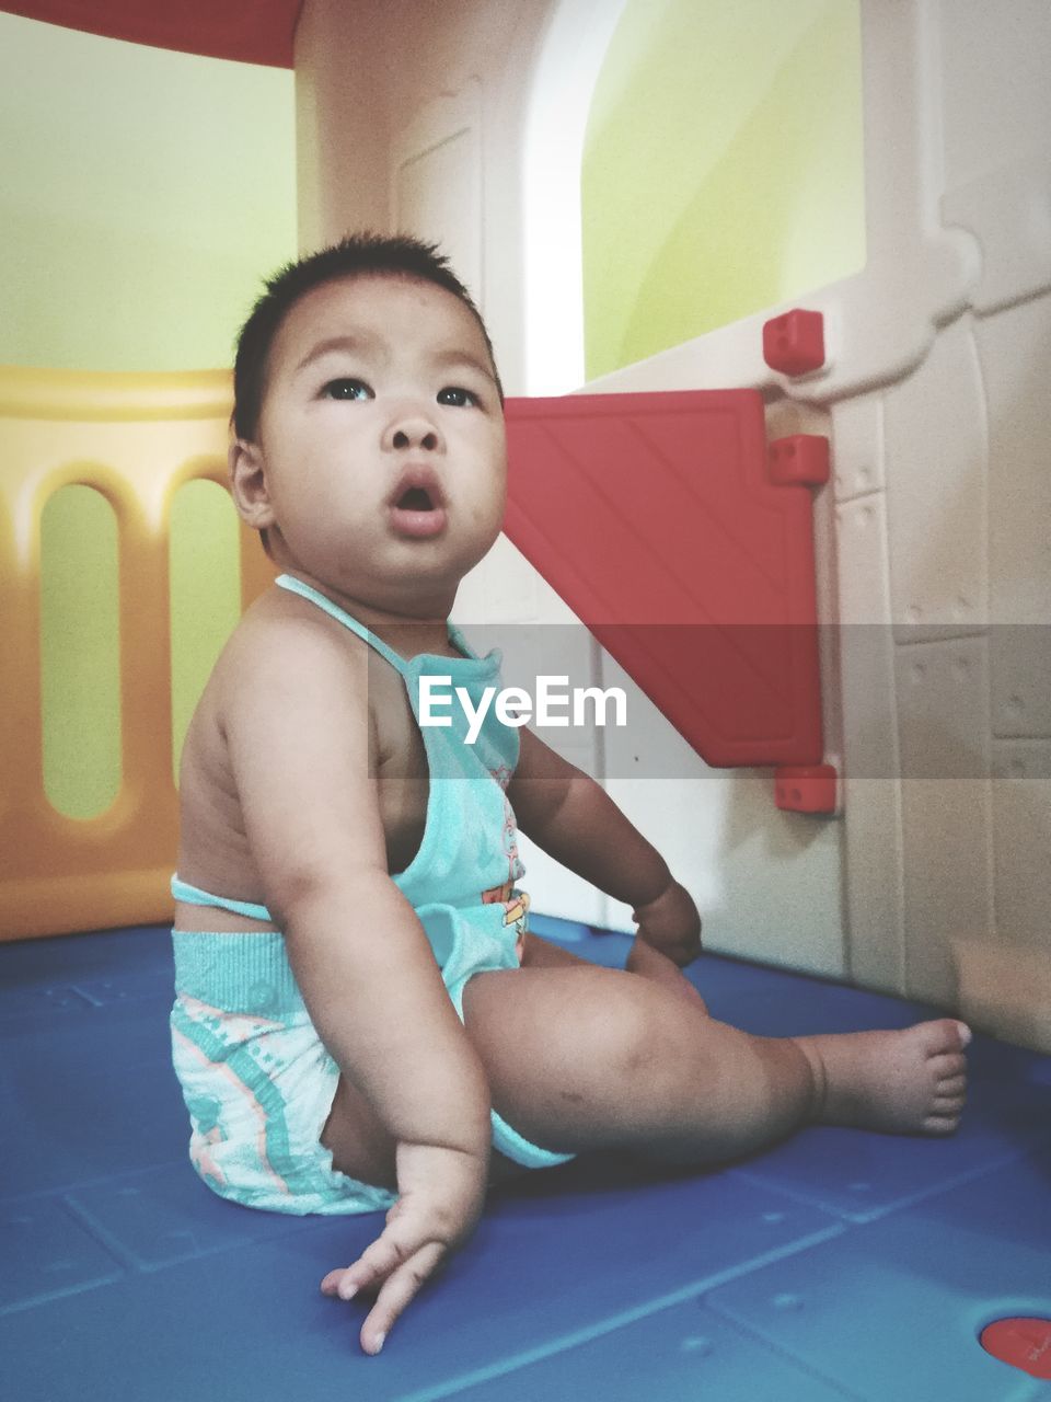
[[[362,1330],[377,1352],[481,1213],[488,1084],[423,928],[387,873],[367,659],[312,620],[262,620],[241,653],[221,722],[265,901],[325,1046],[398,1143],[388,1225],[335,1273],[348,1298],[352,1287],[380,1287]]]

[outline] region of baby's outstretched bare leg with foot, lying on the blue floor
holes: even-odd
[[[464,1012],[493,1108],[545,1148],[719,1162],[806,1123],[946,1133],[968,1039],[904,1032],[754,1037],[646,979],[589,966],[475,976]]]

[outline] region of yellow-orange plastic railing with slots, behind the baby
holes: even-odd
[[[188,481],[226,485],[226,372],[0,367],[0,939],[167,920],[175,862],[168,523]],[[43,787],[41,516],[70,484],[114,509],[122,781],[91,819]],[[241,606],[273,579],[241,529]]]

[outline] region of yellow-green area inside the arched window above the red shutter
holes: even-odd
[[[582,168],[597,379],[865,265],[859,0],[626,0]]]

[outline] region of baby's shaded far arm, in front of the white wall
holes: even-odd
[[[642,939],[682,966],[701,952],[701,917],[660,852],[610,795],[531,730],[509,787],[518,826],[545,852],[633,907]]]

